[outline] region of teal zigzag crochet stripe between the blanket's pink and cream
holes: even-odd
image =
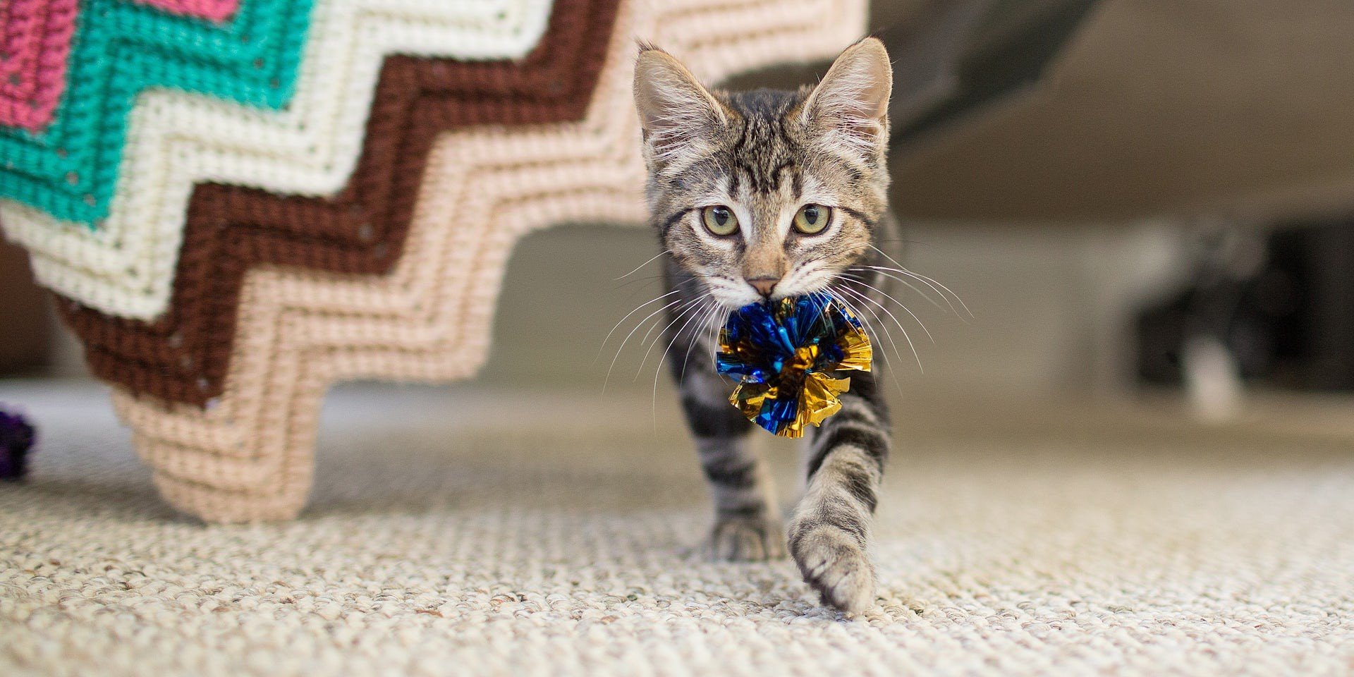
[[[244,0],[213,23],[127,0],[81,0],[66,91],[42,133],[0,130],[0,198],[97,227],[118,181],[137,95],[168,87],[280,108],[313,0]]]

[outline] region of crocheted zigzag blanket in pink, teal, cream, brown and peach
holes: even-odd
[[[830,58],[864,16],[864,0],[14,0],[3,50],[32,68],[7,80],[28,96],[0,119],[0,222],[172,502],[294,515],[328,383],[471,374],[517,237],[642,221],[636,37],[719,79]],[[65,32],[34,38],[54,18]]]

